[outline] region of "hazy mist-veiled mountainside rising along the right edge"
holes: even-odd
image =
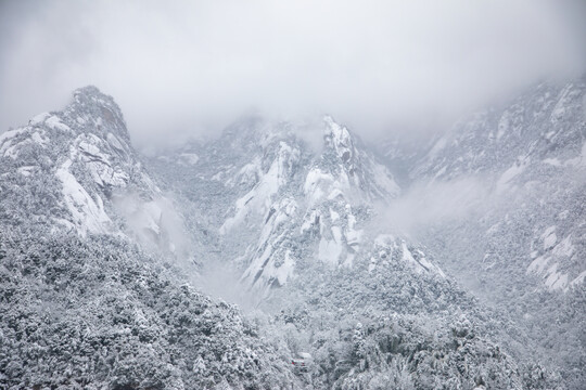
[[[400,160],[400,142],[392,146],[383,152]],[[418,238],[470,291],[524,324],[581,388],[586,79],[540,83],[462,119],[411,157],[409,182],[431,202],[446,188],[470,202],[446,210],[457,218],[420,224]]]

